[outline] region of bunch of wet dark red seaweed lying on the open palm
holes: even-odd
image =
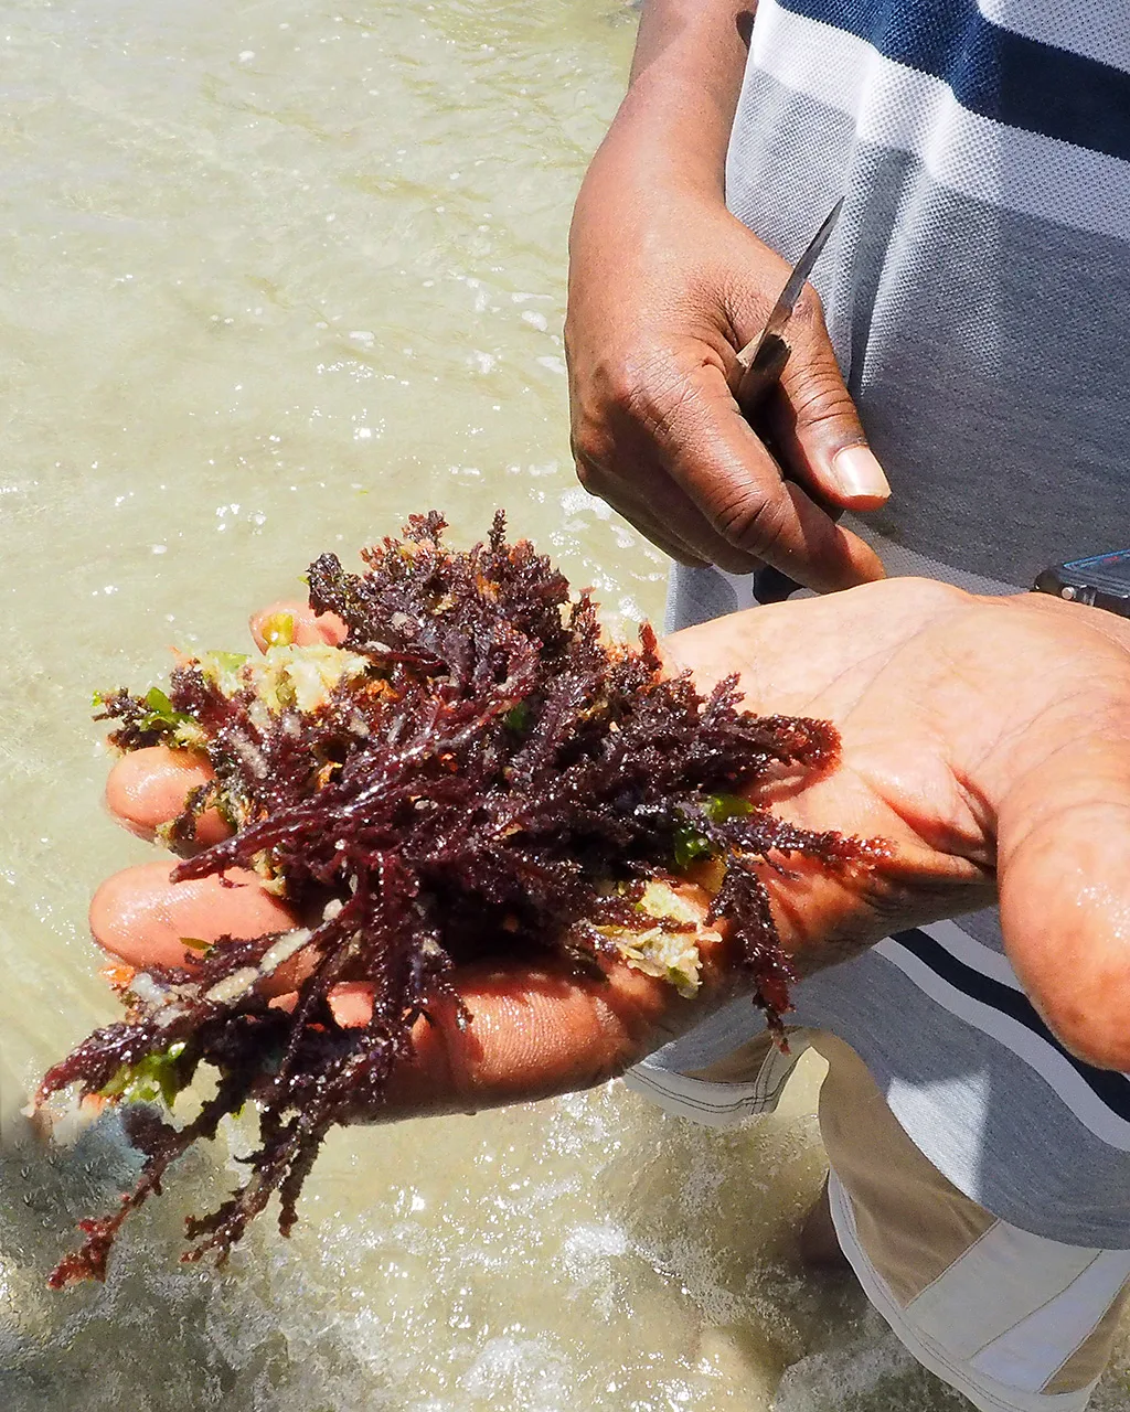
[[[507,544],[501,514],[469,552],[448,549],[444,528],[438,514],[414,517],[403,539],[364,551],[360,575],[333,555],[311,566],[311,604],[343,620],[353,654],[316,709],[284,696],[267,712],[250,686],[222,686],[199,661],[172,672],[158,710],[153,693],[105,699],[120,748],[184,740],[188,724],[208,751],[215,781],[171,830],[189,853],[177,875],[257,868],[308,926],[223,938],[194,969],[141,973],[123,991],[126,1018],[47,1075],[40,1103],[71,1084],[117,1097],[145,1072],[171,1096],[201,1065],[218,1073],[179,1128],[129,1106],[145,1158],[137,1185],[113,1214],[82,1223],[86,1243],[55,1286],[103,1278],[127,1214],[249,1100],[258,1147],[247,1179],[188,1221],[184,1258],[222,1261],[275,1190],[287,1234],[329,1128],[379,1110],[414,1024],[439,997],[458,1005],[455,966],[538,952],[592,969],[610,926],[655,928],[636,905],[646,884],[695,858],[716,860],[710,918],[726,919],[751,993],[780,1024],[791,971],[759,866],[802,854],[840,868],[866,856],[857,840],[746,802],[781,767],[831,762],[831,726],[751,716],[732,681],[703,699],[686,676],[661,674],[647,627],[638,650],[606,645],[588,593],[571,599],[548,559]],[[195,818],[215,806],[234,832],[192,853]],[[314,964],[287,1012],[257,981],[298,949]],[[328,995],[345,980],[374,990],[363,1027],[335,1022]]]

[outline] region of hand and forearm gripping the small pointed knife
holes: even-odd
[[[811,287],[757,431],[734,401],[737,352],[790,274],[725,205],[747,18],[732,0],[644,10],[629,95],[569,236],[573,453],[582,484],[672,558],[734,573],[770,563],[811,589],[842,589],[883,566],[836,517],[874,510],[890,487]]]

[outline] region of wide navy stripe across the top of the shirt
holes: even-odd
[[[1001,30],[973,0],[778,0],[942,79],[962,107],[1130,161],[1130,73]]]

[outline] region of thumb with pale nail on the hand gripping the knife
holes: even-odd
[[[792,313],[788,340],[792,353],[766,407],[784,463],[818,498],[843,510],[877,510],[891,487],[867,445],[819,299],[809,289]]]

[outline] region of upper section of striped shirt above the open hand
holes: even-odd
[[[730,209],[795,258],[843,192],[814,282],[893,566],[1130,542],[1130,3],[761,0]]]

